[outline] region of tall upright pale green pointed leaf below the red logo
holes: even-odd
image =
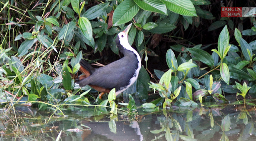
[[[220,32],[219,39],[218,39],[218,51],[221,55],[221,59],[224,59],[223,57],[224,51],[228,47],[228,44],[229,44],[229,33],[228,33],[227,25],[225,25],[225,27]]]

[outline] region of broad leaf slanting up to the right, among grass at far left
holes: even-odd
[[[18,57],[21,57],[27,54],[28,50],[35,44],[36,41],[37,39],[32,39],[32,40],[27,39],[26,41],[22,42],[22,44],[20,44],[18,49]]]

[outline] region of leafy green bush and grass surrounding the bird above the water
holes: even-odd
[[[232,32],[239,47],[230,44],[234,23],[226,17],[208,28],[208,31],[214,31],[225,25],[219,34],[218,49],[205,51],[209,46],[202,47],[202,44],[195,45],[190,41],[186,42],[192,48],[182,43],[171,45],[171,49],[164,53],[168,71],[155,69],[154,73],[160,81],[152,79],[154,82],[150,82],[147,71],[151,74],[148,66],[152,63],[149,57],[161,57],[154,51],[161,49],[161,38],[184,38],[181,35],[184,30],[199,27],[203,20],[215,19],[212,13],[204,10],[209,4],[208,0],[117,0],[100,3],[32,0],[17,4],[2,1],[0,14],[6,19],[0,24],[1,100],[4,103],[30,101],[37,103],[40,109],[46,109],[50,104],[90,105],[95,102],[106,106],[109,102],[111,111],[116,113],[115,98],[95,100],[87,94],[90,87],[78,87],[75,79],[78,78],[79,61],[83,57],[90,63],[101,57],[103,61],[110,62],[118,59],[115,38],[130,22],[134,26],[128,40],[144,59],[145,67],[142,67],[136,84],[124,92],[127,104],[123,105],[127,108],[136,109],[134,100],[128,104],[128,98],[133,99],[129,94],[136,93],[135,97],[147,100],[149,87],[160,94],[160,98],[151,103],[163,105],[164,108],[171,104],[195,106],[197,100],[202,105],[203,99],[208,96],[226,103],[228,100],[224,93],[237,93],[239,89],[245,96],[250,87],[249,92],[256,93],[256,42],[248,43],[242,38],[242,35],[256,34],[253,17],[252,29],[241,30],[241,33],[236,28]],[[22,10],[22,7],[27,9]],[[97,54],[97,59],[90,54]],[[246,82],[246,87],[249,86],[246,91],[238,85],[241,81]],[[88,91],[82,93],[84,90]],[[146,104],[144,107],[155,106]]]

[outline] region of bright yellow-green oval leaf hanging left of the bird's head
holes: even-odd
[[[85,38],[91,40],[93,38],[93,29],[91,28],[90,21],[85,17],[80,17],[78,24]]]

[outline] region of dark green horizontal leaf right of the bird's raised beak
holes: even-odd
[[[152,32],[152,33],[157,33],[157,34],[162,34],[162,33],[167,33],[167,32],[170,32],[172,31],[173,29],[176,28],[175,25],[172,25],[172,24],[169,24],[169,23],[158,23],[159,25],[156,26],[155,28],[151,29],[151,30],[148,30],[149,32]]]

